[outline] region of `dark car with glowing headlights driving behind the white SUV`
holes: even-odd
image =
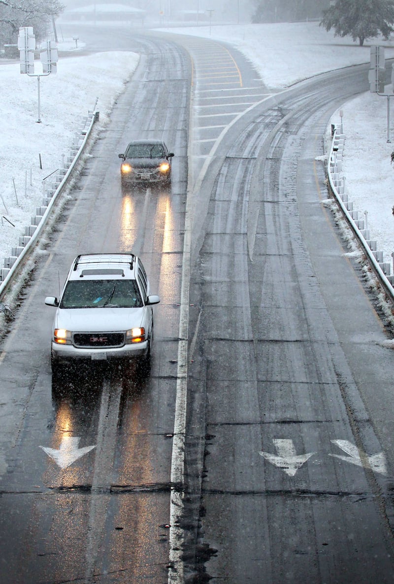
[[[122,186],[136,182],[171,183],[171,159],[174,153],[168,152],[161,140],[134,140],[129,143],[122,158]]]

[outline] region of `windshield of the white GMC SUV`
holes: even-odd
[[[69,281],[60,308],[138,308],[142,298],[135,280]]]

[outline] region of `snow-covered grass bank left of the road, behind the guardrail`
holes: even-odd
[[[3,258],[11,255],[12,246],[19,245],[19,236],[30,225],[36,207],[41,206],[50,183],[50,178],[45,178],[63,167],[62,157],[69,154],[83,116],[97,100],[99,124],[105,127],[114,101],[124,91],[138,60],[138,55],[124,51],[60,56],[57,74],[40,78],[41,123],[37,77],[21,75],[19,63],[0,64],[2,265]]]

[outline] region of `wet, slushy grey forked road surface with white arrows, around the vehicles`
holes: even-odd
[[[220,43],[101,32],[142,57],[2,347],[0,579],[391,582],[393,357],[316,161],[365,66],[267,92]],[[118,152],[152,134],[171,191],[122,193]],[[52,394],[44,297],[110,249],[142,256],[161,296],[152,374],[90,368]]]

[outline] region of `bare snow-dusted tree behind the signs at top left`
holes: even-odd
[[[40,42],[63,11],[58,0],[0,0],[0,43],[16,43],[21,26],[33,26]]]

